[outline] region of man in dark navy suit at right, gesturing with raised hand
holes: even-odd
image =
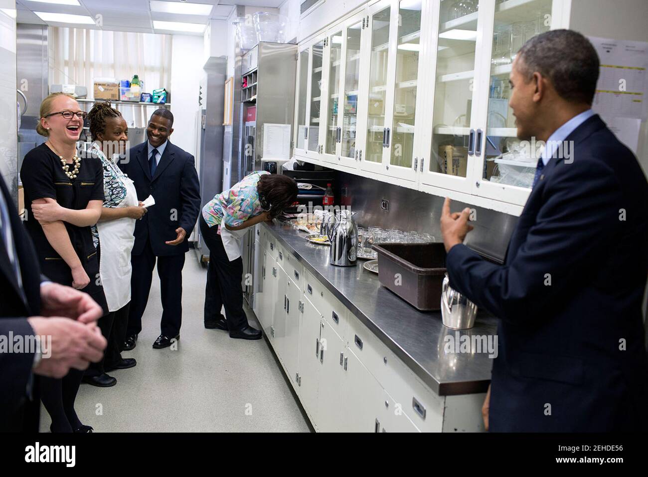
[[[503,265],[463,245],[469,210],[444,204],[450,284],[500,319],[483,409],[492,431],[648,426],[648,184],[590,109],[598,74],[594,47],[568,30],[532,38],[515,58],[518,138],[546,147]]]

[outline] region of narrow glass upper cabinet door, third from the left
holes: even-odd
[[[340,103],[340,77],[342,70],[342,32],[340,30],[327,37],[328,50],[327,90],[322,98],[322,107],[326,108],[325,124],[321,134],[325,134],[324,155],[326,160],[337,160],[340,128],[338,127],[338,110]],[[324,103],[324,101],[326,101]],[[326,106],[325,106],[326,104]]]

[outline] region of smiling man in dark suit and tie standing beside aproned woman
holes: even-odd
[[[182,268],[187,239],[196,225],[200,210],[200,186],[194,156],[173,145],[173,114],[156,110],[148,121],[147,141],[132,147],[122,170],[135,182],[137,199],[152,195],[156,201],[135,223],[135,245],[131,255],[132,301],[128,331],[123,349],[135,347],[142,330],[142,315],[148,302],[153,269],[156,265],[162,295],[161,333],[153,347],[169,347],[180,337],[182,321]]]

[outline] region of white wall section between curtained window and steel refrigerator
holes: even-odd
[[[198,85],[202,76],[203,38],[173,35],[171,56],[171,112],[174,116],[171,141],[196,156]]]

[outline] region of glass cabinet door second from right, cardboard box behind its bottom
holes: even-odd
[[[494,1],[494,0],[492,0]],[[518,1],[518,0],[516,0]],[[478,103],[477,32],[483,23],[483,0],[440,1],[433,13],[434,31],[430,45],[435,55],[430,84],[434,95],[429,155],[424,157],[425,184],[470,192],[474,160],[474,128]],[[434,82],[434,85],[432,83]],[[469,177],[470,176],[470,177]],[[470,180],[469,180],[470,179]]]

